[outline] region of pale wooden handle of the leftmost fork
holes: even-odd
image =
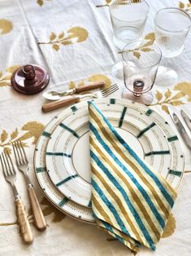
[[[20,198],[15,199],[16,215],[20,225],[20,236],[26,244],[33,242],[33,233],[24,210],[24,203]]]

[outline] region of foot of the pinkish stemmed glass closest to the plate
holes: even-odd
[[[137,97],[137,96],[133,95],[133,93],[127,89],[123,90],[123,92],[121,94],[121,98],[130,99],[132,101],[136,101],[136,102],[144,104],[144,105],[150,105],[154,99],[151,91],[148,91],[148,92],[142,94],[141,96]]]

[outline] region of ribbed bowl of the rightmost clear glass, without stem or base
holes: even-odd
[[[189,14],[179,8],[163,8],[157,12],[154,19],[155,40],[164,57],[175,57],[184,50],[190,21]]]

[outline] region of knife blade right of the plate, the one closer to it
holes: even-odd
[[[189,135],[187,134],[187,131],[184,129],[183,124],[180,121],[180,118],[176,115],[173,108],[168,107],[169,113],[171,115],[171,119],[174,122],[176,129],[179,131],[182,139],[184,140],[184,143],[191,149],[191,139]]]

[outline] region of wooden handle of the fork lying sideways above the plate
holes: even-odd
[[[79,97],[71,97],[69,99],[60,99],[60,100],[57,100],[55,102],[50,102],[50,103],[47,103],[47,104],[43,104],[42,107],[41,107],[41,110],[43,112],[49,112],[51,110],[67,106],[69,104],[78,103],[79,101],[80,101]]]

